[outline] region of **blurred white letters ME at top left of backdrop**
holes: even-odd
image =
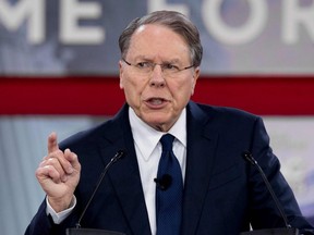
[[[0,0],[0,23],[8,30],[16,30],[27,22],[27,39],[31,44],[40,44],[46,39],[45,27],[46,0],[20,0],[14,5],[9,0]],[[105,40],[105,28],[80,26],[78,21],[95,20],[101,15],[101,5],[97,2],[60,0],[59,39],[69,45],[98,45]]]

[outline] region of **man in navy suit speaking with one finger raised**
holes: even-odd
[[[197,28],[184,15],[158,11],[135,18],[119,46],[126,103],[113,119],[60,145],[55,133],[48,137],[48,154],[36,171],[47,197],[25,234],[60,235],[75,226],[104,166],[119,150],[125,157],[108,171],[82,227],[162,234],[156,202],[164,154],[159,139],[165,134],[174,136],[170,154],[176,156],[183,181],[177,225],[169,217],[170,228],[178,230],[168,234],[234,235],[250,225],[285,226],[258,171],[242,158],[244,151],[265,171],[288,223],[312,227],[280,173],[262,119],[190,100],[203,50]],[[170,182],[162,190],[174,186],[177,182]]]

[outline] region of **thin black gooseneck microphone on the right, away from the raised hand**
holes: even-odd
[[[250,151],[244,151],[242,157],[251,163],[254,168],[258,170],[258,173],[261,174],[263,182],[265,183],[267,190],[269,191],[273,200],[275,201],[276,208],[280,213],[280,217],[282,218],[285,222],[286,227],[279,227],[279,228],[266,228],[266,230],[258,230],[258,231],[250,231],[250,232],[243,232],[240,235],[267,235],[267,234],[273,234],[273,235],[299,235],[299,230],[291,227],[291,225],[288,223],[287,215],[277,198],[275,195],[275,191],[266,177],[263,169],[259,166],[257,161],[253,158],[253,154]]]

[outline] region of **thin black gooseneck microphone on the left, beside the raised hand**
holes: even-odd
[[[94,199],[105,175],[107,174],[109,168],[116,163],[117,161],[119,161],[120,159],[122,159],[125,156],[125,151],[123,150],[118,150],[117,153],[111,158],[111,160],[109,161],[109,163],[107,163],[98,178],[98,182],[96,184],[95,189],[93,190],[93,194],[90,196],[90,198],[88,199],[83,212],[81,213],[81,217],[77,221],[77,223],[75,224],[75,227],[72,228],[67,228],[67,235],[124,235],[123,233],[119,233],[119,232],[113,232],[113,231],[104,231],[104,230],[94,230],[94,228],[81,228],[81,221],[83,219],[83,217],[85,215],[86,210],[88,209],[92,200]]]

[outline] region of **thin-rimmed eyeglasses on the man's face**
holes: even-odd
[[[158,63],[153,63],[153,62],[138,62],[136,64],[132,64],[130,62],[128,62],[124,58],[122,58],[122,60],[129,65],[132,66],[132,69],[134,70],[134,72],[136,72],[140,75],[149,75],[156,65],[159,65],[162,72],[162,75],[166,77],[173,77],[176,74],[178,74],[181,71],[185,71],[189,70],[191,67],[194,66],[194,64],[180,69],[174,64],[171,63],[164,63],[164,64],[158,64]]]

